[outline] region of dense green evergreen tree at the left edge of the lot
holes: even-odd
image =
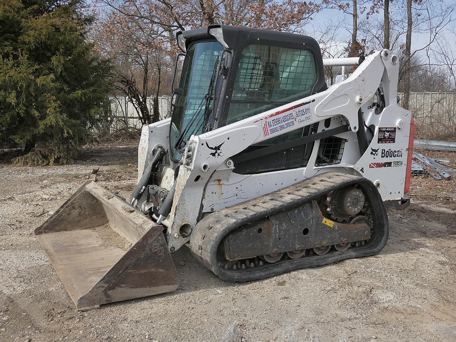
[[[87,40],[82,0],[0,0],[0,143],[17,165],[71,163],[109,110],[111,66]]]

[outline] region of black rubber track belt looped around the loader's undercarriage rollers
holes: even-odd
[[[243,270],[223,269],[218,263],[218,246],[234,229],[285,210],[298,207],[323,194],[359,184],[366,195],[373,218],[373,235],[368,244],[352,247],[347,251],[332,250],[325,255],[309,255],[300,259],[288,259],[275,264],[264,264]],[[377,188],[371,181],[359,176],[326,172],[298,182],[267,195],[253,198],[207,215],[192,232],[190,247],[196,259],[223,280],[252,281],[289,272],[294,269],[332,264],[344,259],[364,257],[380,252],[389,233],[388,216]]]

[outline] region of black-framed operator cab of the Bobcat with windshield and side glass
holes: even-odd
[[[180,31],[185,59],[171,96],[170,157],[181,160],[192,135],[233,124],[326,89],[321,50],[315,39],[292,33],[212,25]],[[175,76],[177,61],[175,67]],[[318,124],[252,145],[280,145],[316,132]],[[301,147],[301,148],[300,148]],[[313,142],[236,163],[238,173],[306,166]],[[245,152],[245,151],[243,151]],[[285,152],[285,153],[284,153]]]

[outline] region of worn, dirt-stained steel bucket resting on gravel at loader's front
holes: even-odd
[[[93,181],[35,235],[78,310],[177,288],[163,227]]]

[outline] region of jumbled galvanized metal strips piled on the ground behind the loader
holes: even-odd
[[[435,179],[451,179],[456,174],[456,169],[445,166],[451,163],[451,159],[428,158],[420,153],[413,152],[412,176],[431,175]]]

